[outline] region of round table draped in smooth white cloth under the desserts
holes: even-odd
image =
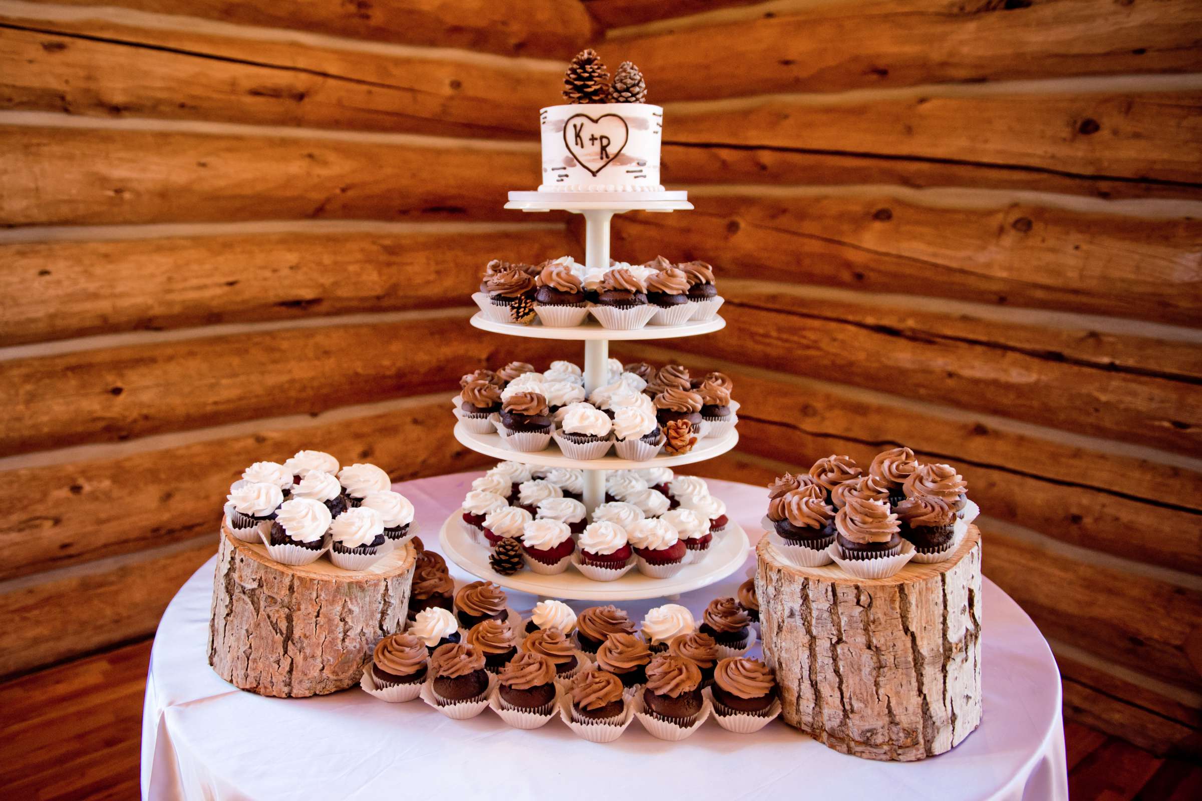
[[[427,548],[471,479],[460,473],[398,484],[413,502]],[[764,491],[710,482],[752,540]],[[754,544],[754,543],[752,543]],[[987,548],[988,551],[988,548]],[[748,555],[748,569],[754,556]],[[159,624],[142,718],[142,794],[161,799],[857,797],[1067,799],[1060,677],[1047,642],[1006,593],[984,580],[984,718],[969,737],[918,763],[877,763],[819,745],[779,719],[752,735],[707,723],[682,742],[635,722],[609,745],[559,721],[523,731],[486,710],[452,721],[422,701],[386,704],[359,689],[305,699],[263,698],[222,681],[206,662],[214,560],[180,588]],[[458,581],[472,576],[451,566]],[[700,617],[732,596],[739,570],[682,596]],[[529,609],[535,598],[511,593]],[[641,618],[656,600],[621,604]],[[572,603],[579,611],[588,605]],[[758,656],[752,652],[751,656]]]

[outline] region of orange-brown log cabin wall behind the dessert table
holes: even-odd
[[[643,68],[697,207],[618,219],[615,256],[722,276],[726,331],[621,351],[736,376],[740,449],[698,472],[960,466],[1067,713],[1196,752],[1200,17],[0,0],[0,675],[150,635],[250,461],[482,464],[447,389],[565,353],[469,328],[466,289],[582,256],[501,202],[595,42]]]

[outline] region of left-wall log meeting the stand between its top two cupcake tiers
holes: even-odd
[[[511,339],[482,334],[457,315],[0,361],[0,453],[453,391],[469,370],[564,354],[538,341],[546,343],[519,352]]]

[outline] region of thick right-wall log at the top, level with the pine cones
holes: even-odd
[[[1189,0],[882,0],[802,4],[748,17],[632,31],[599,52],[613,62],[638,64],[659,100],[1188,72],[1200,65],[1194,31],[1202,10]]]

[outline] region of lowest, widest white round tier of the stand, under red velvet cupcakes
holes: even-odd
[[[575,568],[559,575],[540,575],[532,570],[500,575],[488,566],[484,546],[465,531],[459,512],[442,524],[439,544],[442,554],[464,570],[506,590],[530,592],[542,598],[603,602],[660,598],[700,590],[738,570],[751,550],[746,533],[732,520],[726,524],[726,531],[714,538],[710,552],[701,564],[686,564],[671,579],[648,578],[636,567],[615,581],[593,581]]]

